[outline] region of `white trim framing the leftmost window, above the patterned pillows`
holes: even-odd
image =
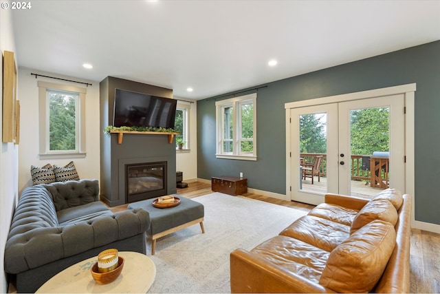
[[[48,83],[38,81],[39,87],[39,138],[40,138],[40,158],[82,158],[85,157],[85,94],[86,88],[75,87],[72,85],[61,85],[57,83]],[[49,151],[49,134],[47,127],[49,125],[47,114],[47,89],[77,92],[79,94],[79,118],[76,139],[78,140],[78,150],[76,151]]]

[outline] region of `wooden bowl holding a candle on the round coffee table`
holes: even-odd
[[[109,249],[98,255],[98,262],[91,267],[91,276],[98,284],[109,284],[116,280],[124,267],[124,258],[118,256],[118,250]]]

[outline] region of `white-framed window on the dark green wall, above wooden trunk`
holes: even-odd
[[[256,93],[215,103],[217,158],[256,160]]]

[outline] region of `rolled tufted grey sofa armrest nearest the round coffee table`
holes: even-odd
[[[39,228],[14,235],[6,242],[5,271],[21,273],[144,233],[149,227],[148,212],[131,209],[65,227]]]

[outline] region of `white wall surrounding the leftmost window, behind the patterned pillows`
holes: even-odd
[[[81,81],[91,83],[86,85],[59,81],[53,78],[44,78],[39,76],[35,78],[33,74],[43,74],[45,76],[55,76],[72,81]],[[52,165],[65,166],[71,160],[74,161],[76,170],[80,178],[100,178],[100,142],[99,136],[102,130],[99,125],[99,82],[85,81],[72,76],[61,76],[39,70],[31,70],[26,67],[19,68],[19,96],[21,108],[21,136],[19,151],[19,191],[25,187],[32,186],[30,176],[30,166],[36,165],[42,167],[47,163]],[[39,87],[38,81],[47,81],[50,83],[60,83],[63,85],[74,85],[76,87],[87,87],[85,123],[86,123],[86,154],[85,158],[57,158],[40,159],[39,158]]]

